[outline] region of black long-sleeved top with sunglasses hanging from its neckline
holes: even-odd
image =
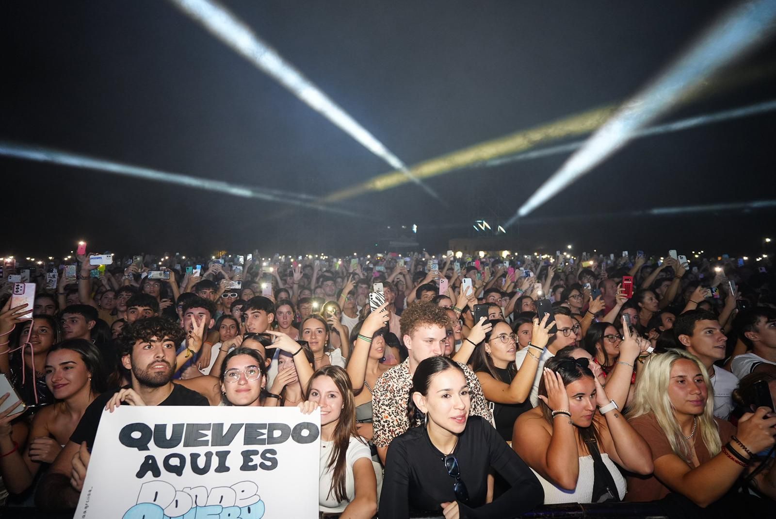
[[[462,519],[511,518],[542,504],[544,490],[539,479],[482,417],[469,416],[452,454],[469,492],[468,505],[459,503]],[[439,514],[441,503],[455,501],[456,479],[448,474],[444,458],[431,443],[425,427],[412,427],[394,438],[386,455],[380,519],[410,517],[411,510]],[[486,504],[487,473],[491,467],[511,489]]]

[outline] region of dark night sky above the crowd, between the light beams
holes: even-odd
[[[412,165],[627,99],[733,2],[223,4]],[[391,169],[168,2],[6,2],[0,40],[2,141],[315,197]],[[774,86],[771,40],[662,121],[771,100]],[[633,141],[508,234],[526,250],[756,253],[774,209],[600,215],[776,199],[774,123]],[[122,254],[339,254],[412,224],[438,252],[477,218],[508,220],[567,156],[429,179],[448,207],[413,184],[339,205],[361,218],[0,157],[0,254],[78,239]]]

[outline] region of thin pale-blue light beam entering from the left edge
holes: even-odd
[[[224,193],[233,197],[257,198],[268,202],[278,204],[289,204],[318,211],[327,211],[337,214],[347,214],[348,216],[359,216],[352,211],[345,211],[338,207],[329,207],[314,203],[314,197],[300,193],[288,193],[281,190],[266,189],[255,186],[241,186],[223,182],[220,180],[203,179],[198,176],[183,175],[181,173],[171,173],[159,171],[158,169],[144,168],[137,165],[122,164],[104,160],[102,158],[89,157],[87,155],[77,155],[70,152],[62,152],[52,148],[43,148],[40,146],[20,145],[8,141],[0,141],[0,155],[12,158],[22,158],[35,162],[48,162],[50,164],[66,165],[73,168],[92,169],[113,173],[114,175],[131,176],[136,179],[151,180],[152,182],[163,182],[175,184],[177,186],[189,187],[191,189],[213,191]]]

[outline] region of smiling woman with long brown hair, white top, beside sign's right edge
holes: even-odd
[[[355,430],[350,378],[338,366],[313,374],[303,413],[320,407],[319,510],[368,519],[377,513],[377,479],[369,446]]]

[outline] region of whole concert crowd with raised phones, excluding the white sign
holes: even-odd
[[[78,252],[4,259],[6,506],[74,510],[116,406],[320,409],[341,517],[776,506],[767,256]]]

